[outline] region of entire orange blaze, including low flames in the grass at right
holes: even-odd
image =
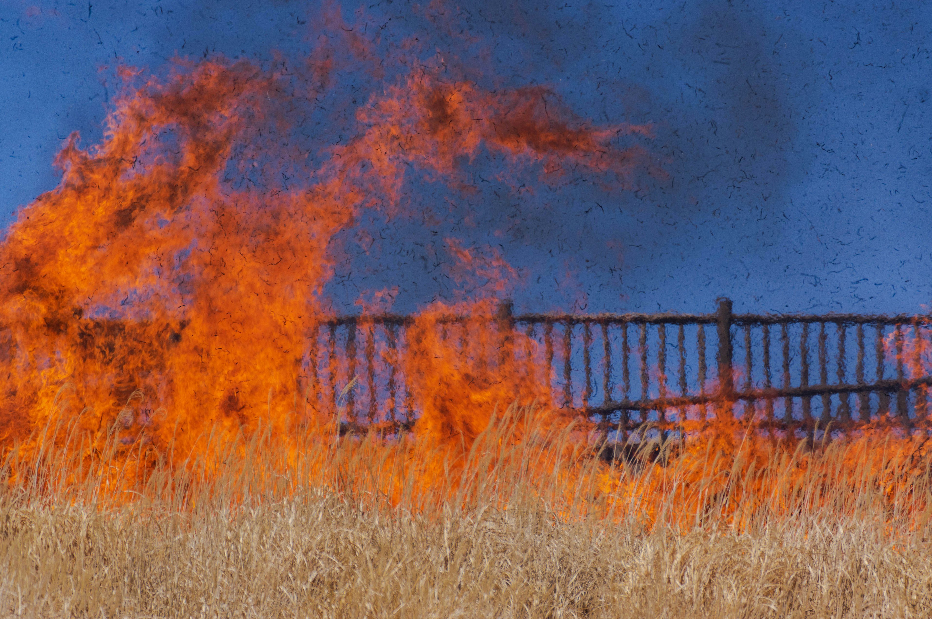
[[[316,84],[332,87],[332,59],[312,58]],[[802,478],[857,486],[802,443],[776,445],[725,415],[692,428],[685,446],[662,446],[653,464],[599,460],[593,426],[551,402],[544,351],[498,313],[514,271],[455,239],[455,276],[481,280],[484,292],[433,303],[401,350],[379,350],[408,379],[413,431],[383,418],[370,425],[381,435],[341,437],[337,398],[328,408],[308,378],[311,334],[334,315],[326,286],[349,260],[338,235],[363,215],[403,210],[412,179],[458,191],[462,166],[480,155],[514,187],[533,173],[558,184],[585,169],[623,187],[643,171],[663,174],[643,148],[616,142],[649,137],[649,127],[594,127],[547,87],[487,91],[443,68],[380,84],[352,137],[313,152],[290,142],[308,90],[285,71],[220,58],[178,61],[163,77],[123,70],[127,87],[103,141],[82,149],[68,139],[56,160],[62,182],[21,209],[0,245],[9,481],[39,477],[55,452],[70,455],[49,487],[98,479],[94,492],[124,497],[167,475],[160,488],[195,501],[185,491],[193,471],[219,483],[267,457],[262,483],[352,488],[401,505],[412,480],[446,499],[487,488],[482,476],[507,461],[525,480],[559,480],[551,505],[637,512],[649,523],[703,522],[718,510],[737,526],[796,509]],[[473,318],[459,345],[449,315]],[[364,378],[340,371],[351,397]],[[891,465],[927,462],[924,444],[910,441],[876,461],[861,448],[839,457],[868,458],[876,478],[897,484]],[[354,481],[360,471],[367,477]],[[495,480],[499,489],[512,482]]]

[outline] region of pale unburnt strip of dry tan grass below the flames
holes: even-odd
[[[26,616],[928,617],[929,545],[863,522],[735,535],[530,506],[386,517],[333,495],[212,517],[8,511],[0,595]]]

